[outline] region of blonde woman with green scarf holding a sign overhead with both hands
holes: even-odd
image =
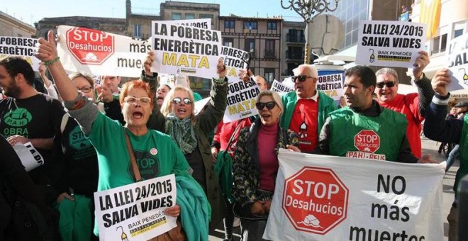
[[[150,52],[145,61],[145,79],[154,77],[150,66],[154,54]],[[225,217],[225,204],[221,186],[211,161],[211,149],[208,136],[220,123],[227,106],[228,79],[225,77],[225,65],[220,59],[217,65],[218,78],[211,84],[211,100],[203,112],[195,115],[194,94],[186,86],[175,86],[167,94],[161,106],[164,118],[157,113],[158,122],[165,122],[165,133],[172,137],[182,150],[192,169],[192,176],[199,182],[211,204],[210,230],[213,230]],[[153,113],[154,114],[154,113]]]

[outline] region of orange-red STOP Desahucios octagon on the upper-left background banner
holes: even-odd
[[[101,65],[114,52],[113,35],[89,28],[67,30],[67,48],[82,65]]]

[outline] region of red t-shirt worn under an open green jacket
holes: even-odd
[[[299,136],[299,149],[303,152],[312,152],[317,147],[317,101],[299,99],[289,124],[289,129]]]

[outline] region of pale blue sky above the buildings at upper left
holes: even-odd
[[[180,0],[219,4],[221,16],[233,13],[244,17],[282,15],[287,21],[302,21],[294,11],[282,9],[280,0]],[[284,0],[286,3],[287,0]],[[159,13],[165,0],[133,0],[133,12]],[[125,18],[126,0],[0,0],[0,11],[33,26],[42,18],[91,16]]]

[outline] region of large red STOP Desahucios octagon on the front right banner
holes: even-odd
[[[282,208],[296,230],[325,235],[346,219],[348,193],[332,169],[303,167],[284,180]]]

